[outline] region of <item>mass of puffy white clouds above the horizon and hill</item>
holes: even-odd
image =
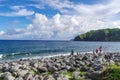
[[[68,0],[40,0],[59,12],[53,17],[35,13],[32,22],[23,29],[0,31],[2,38],[9,39],[62,39],[69,40],[74,36],[96,29],[120,27],[120,1],[110,0],[99,4],[75,4]],[[38,4],[37,4],[38,5]],[[38,8],[38,7],[37,7]],[[34,14],[21,7],[14,7],[17,14]],[[12,15],[17,15],[11,13]],[[7,14],[6,14],[7,15]]]

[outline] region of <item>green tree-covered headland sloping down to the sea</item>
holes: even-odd
[[[74,41],[120,41],[120,29],[92,30],[76,36]]]

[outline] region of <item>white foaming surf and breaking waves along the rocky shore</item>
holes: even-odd
[[[74,54],[76,55],[77,53],[81,53],[81,54],[85,54],[85,53],[92,53],[92,51],[89,52],[74,52]],[[17,55],[22,55],[20,58],[15,58],[18,57]],[[32,54],[32,53],[25,53],[25,54],[21,54],[21,53],[11,53],[11,54],[0,54],[0,63],[4,63],[4,62],[12,62],[12,61],[19,61],[19,60],[25,60],[25,59],[43,59],[43,58],[51,58],[51,57],[56,57],[56,56],[68,56],[70,55],[70,52],[61,52],[61,53],[53,53],[53,54]],[[10,59],[7,59],[11,57]]]

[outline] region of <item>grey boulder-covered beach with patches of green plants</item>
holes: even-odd
[[[120,66],[120,53],[93,53],[0,63],[0,80],[102,80],[110,64]]]

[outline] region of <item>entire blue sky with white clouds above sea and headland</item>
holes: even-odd
[[[0,0],[0,39],[70,40],[120,28],[120,0]]]

